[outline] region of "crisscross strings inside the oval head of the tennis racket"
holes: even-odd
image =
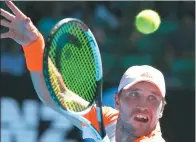
[[[87,102],[92,103],[94,101],[97,87],[95,81],[96,64],[93,56],[94,51],[90,48],[90,43],[88,42],[84,32],[81,31],[80,27],[71,24],[61,27],[56,33],[53,43],[51,44],[49,57],[56,66],[56,46],[59,37],[65,33],[71,33],[77,39],[79,39],[81,47],[76,47],[76,45],[72,43],[67,43],[62,48],[60,61],[58,61],[61,67],[60,72],[62,78],[67,88],[69,88],[75,94],[78,94],[78,96]],[[58,99],[57,101],[59,101],[64,108],[74,112],[79,112],[87,108],[87,106],[81,105],[79,102],[74,101],[74,99],[65,99],[65,96],[62,95],[58,78],[55,76],[51,66],[49,73],[56,99]]]

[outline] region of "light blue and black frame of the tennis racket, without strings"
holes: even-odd
[[[49,93],[54,93],[53,89],[52,89],[52,85],[51,85],[51,82],[50,82],[50,79],[49,79],[49,49],[50,48],[50,45],[51,45],[51,41],[54,39],[54,36],[55,36],[55,33],[60,29],[60,27],[63,25],[63,24],[66,24],[66,23],[69,23],[69,22],[79,22],[83,27],[83,31],[85,32],[85,34],[87,35],[87,37],[89,38],[92,38],[92,39],[88,39],[90,41],[90,44],[91,44],[91,48],[95,48],[96,49],[96,55],[98,55],[98,65],[100,65],[100,72],[97,73],[97,76],[96,76],[96,80],[97,80],[97,83],[98,83],[98,87],[97,87],[97,91],[96,91],[96,98],[95,98],[95,101],[89,105],[89,107],[87,109],[85,109],[84,111],[81,111],[81,112],[73,112],[73,111],[70,111],[70,110],[66,110],[65,108],[63,107],[59,107],[61,112],[66,115],[69,115],[71,116],[71,118],[75,121],[79,121],[81,122],[81,124],[85,124],[87,127],[89,127],[91,129],[91,131],[94,133],[94,135],[96,136],[96,141],[98,142],[110,142],[108,136],[106,135],[106,132],[105,132],[105,127],[104,127],[104,124],[103,124],[103,115],[102,115],[102,77],[103,77],[103,72],[102,72],[102,62],[101,62],[101,56],[100,56],[100,52],[99,52],[99,48],[98,48],[98,45],[96,43],[96,40],[92,34],[92,32],[90,31],[90,29],[81,21],[81,20],[78,20],[78,19],[75,19],[75,18],[65,18],[65,19],[62,19],[60,20],[54,27],[53,29],[51,30],[50,32],[50,35],[47,39],[47,42],[46,42],[46,48],[44,49],[44,53],[45,52],[48,52],[46,53],[47,56],[44,56],[44,59],[43,59],[43,67],[46,67],[47,69],[43,69],[43,74],[44,74],[44,78],[45,78],[45,82],[47,84],[47,87],[48,87],[48,84],[50,84],[49,86]],[[47,73],[45,72],[47,71]],[[45,76],[45,75],[48,75],[48,76]],[[48,79],[47,79],[48,78]],[[48,83],[49,81],[49,83]],[[52,92],[51,92],[52,91]],[[51,95],[52,99],[53,98],[53,95]],[[55,101],[57,102],[57,101]],[[59,101],[58,101],[59,102]],[[58,106],[62,106],[59,102],[59,104],[57,104]],[[98,123],[99,123],[99,129],[100,130],[97,130],[89,120],[87,120],[86,118],[82,117],[82,115],[85,115],[87,114],[91,109],[92,107],[96,105],[96,114],[97,114],[97,120],[98,120]],[[98,132],[100,131],[100,132]]]

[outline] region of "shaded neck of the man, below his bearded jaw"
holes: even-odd
[[[127,128],[124,127],[120,118],[118,118],[115,133],[116,142],[134,142],[134,140],[136,140],[137,137],[133,136],[131,134],[131,131],[135,130],[131,128],[130,130],[127,130]]]

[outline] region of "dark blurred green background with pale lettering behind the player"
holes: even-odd
[[[4,2],[1,8],[10,11]],[[194,142],[195,130],[195,2],[15,2],[45,38],[66,17],[84,21],[94,33],[103,60],[105,105],[124,71],[148,64],[165,75],[167,105],[161,119],[167,142]],[[135,16],[153,9],[161,16],[158,31],[143,35]],[[6,28],[1,28],[6,31]],[[84,141],[80,131],[38,99],[20,45],[1,39],[1,141]],[[89,140],[85,140],[89,141]]]

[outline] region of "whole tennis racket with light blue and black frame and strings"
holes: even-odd
[[[102,116],[101,56],[87,25],[73,18],[59,21],[51,30],[43,58],[45,83],[59,109],[90,128],[95,141],[109,141]],[[83,117],[94,105],[99,130]]]

